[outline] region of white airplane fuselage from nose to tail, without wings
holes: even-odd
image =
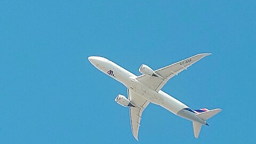
[[[96,56],[89,57],[88,59],[92,65],[101,70],[103,73],[116,79],[116,81],[124,84],[127,89],[149,100],[151,103],[159,105],[171,111],[173,114],[186,118],[190,121],[208,125],[202,118],[196,116],[193,110],[191,110],[184,103],[161,90],[158,92],[151,90],[145,84],[137,81],[136,75],[132,74],[130,71],[122,68],[121,66],[118,66],[116,63],[106,58]]]

